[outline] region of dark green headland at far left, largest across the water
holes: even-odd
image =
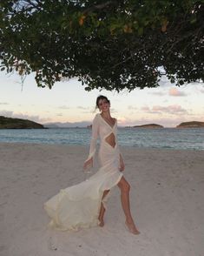
[[[26,119],[0,116],[0,129],[44,129],[44,126]]]

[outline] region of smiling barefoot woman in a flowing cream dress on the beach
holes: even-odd
[[[89,157],[83,167],[86,170],[89,166],[93,166],[96,141],[100,136],[101,168],[89,179],[61,190],[44,204],[44,208],[51,218],[49,225],[60,230],[104,226],[106,199],[110,189],[118,185],[121,189],[122,209],[126,217],[125,224],[129,232],[139,234],[129,207],[130,186],[122,175],[124,162],[117,144],[117,120],[110,116],[108,98],[99,96],[96,99],[96,106],[101,113],[96,114],[93,120]]]

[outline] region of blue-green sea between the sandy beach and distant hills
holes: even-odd
[[[87,128],[67,129],[12,129],[0,130],[0,143],[42,143],[89,145],[91,130]],[[204,150],[204,129],[138,129],[119,128],[118,142],[142,148],[172,148]]]

